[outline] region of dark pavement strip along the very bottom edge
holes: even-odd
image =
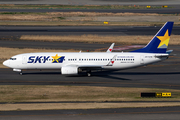
[[[90,110],[1,111],[6,120],[179,120],[180,107]]]

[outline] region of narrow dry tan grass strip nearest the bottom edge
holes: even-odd
[[[106,109],[106,108],[147,108],[180,106],[180,102],[154,103],[41,103],[41,104],[0,104],[0,111],[59,110],[59,109]]]

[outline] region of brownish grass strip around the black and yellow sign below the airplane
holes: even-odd
[[[172,92],[172,98],[141,98],[141,92]],[[179,93],[180,90],[156,88],[0,85],[0,102],[180,101]]]

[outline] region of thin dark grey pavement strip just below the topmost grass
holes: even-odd
[[[173,7],[173,6],[171,6]],[[159,13],[159,14],[178,14],[180,9],[177,5],[175,8],[164,9],[0,9],[0,12],[110,12],[110,13]]]

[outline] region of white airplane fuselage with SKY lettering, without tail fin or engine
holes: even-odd
[[[53,63],[53,57],[62,57]],[[113,65],[107,64],[115,56]],[[13,69],[61,69],[63,66],[101,66],[102,69],[127,69],[151,64],[166,59],[156,57],[154,53],[26,53],[13,56],[14,59],[6,60],[3,64]],[[159,55],[159,54],[158,54]]]

